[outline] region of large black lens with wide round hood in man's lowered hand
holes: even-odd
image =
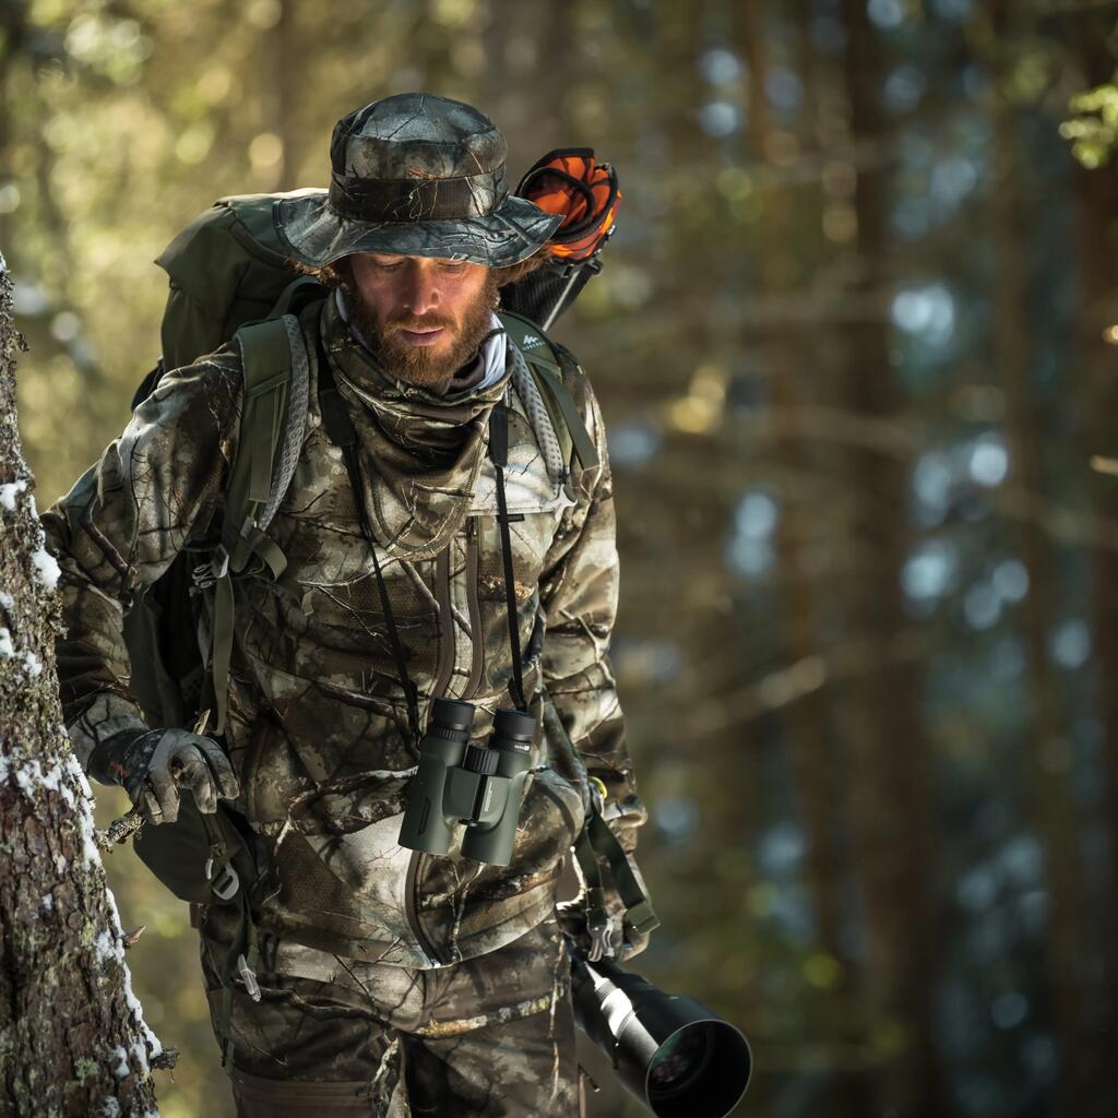
[[[749,1084],[742,1033],[690,997],[572,951],[575,1018],[659,1118],[726,1118]]]

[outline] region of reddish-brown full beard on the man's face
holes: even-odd
[[[461,325],[442,314],[408,314],[381,325],[353,287],[347,291],[347,295],[350,318],[380,367],[397,380],[437,392],[445,390],[454,375],[477,356],[482,340],[492,329],[490,315],[498,302],[498,283],[491,272],[476,301],[466,309]],[[411,345],[399,337],[401,330],[425,326],[444,326],[451,331],[457,326],[457,337],[449,352],[444,352],[442,347]],[[434,349],[439,352],[432,352]]]

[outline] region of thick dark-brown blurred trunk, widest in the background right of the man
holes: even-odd
[[[846,97],[854,142],[885,139],[880,107],[884,60],[864,0],[844,0]],[[890,192],[881,165],[858,171],[858,288],[868,300],[889,287]],[[847,329],[845,396],[866,420],[900,413],[889,354],[889,322],[879,312]],[[941,1111],[932,991],[936,927],[931,903],[930,756],[920,720],[917,669],[890,662],[888,648],[908,626],[900,572],[909,547],[910,464],[852,448],[850,534],[856,562],[845,590],[847,635],[880,651],[879,669],[846,689],[849,787],[866,930],[866,974],[877,1021],[881,1078],[874,1114],[922,1118]]]

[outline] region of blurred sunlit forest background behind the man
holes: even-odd
[[[625,201],[556,335],[612,436],[663,920],[741,1114],[1118,1114],[1118,3],[2,0],[0,245],[40,505],[158,356],[152,258],[472,102]],[[1098,89],[1102,86],[1101,89]],[[1083,91],[1098,89],[1072,104]],[[103,796],[103,817],[123,808]],[[167,1118],[228,1115],[184,907],[108,860]],[[608,1070],[597,1115],[635,1115]]]

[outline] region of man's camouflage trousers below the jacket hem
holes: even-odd
[[[221,1040],[218,966],[231,929],[201,921]],[[238,1118],[521,1118],[580,1114],[570,963],[555,919],[434,970],[362,963],[266,938],[260,999],[229,1008]]]

